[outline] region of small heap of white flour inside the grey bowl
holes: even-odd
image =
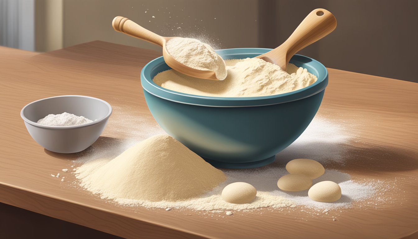
[[[74,114],[64,112],[56,115],[49,114],[45,116],[45,118],[38,120],[37,123],[48,126],[75,126],[92,122],[92,120],[84,118],[83,116],[76,116]]]

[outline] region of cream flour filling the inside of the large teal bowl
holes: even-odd
[[[166,89],[192,95],[253,97],[299,90],[317,80],[307,69],[293,64],[289,64],[285,72],[278,65],[258,58],[225,62],[228,76],[222,81],[194,78],[173,69],[158,73],[153,81]]]

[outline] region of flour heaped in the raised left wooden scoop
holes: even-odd
[[[214,49],[197,39],[176,37],[166,43],[168,54],[176,61],[198,70],[212,70],[218,80],[227,77],[225,62]]]

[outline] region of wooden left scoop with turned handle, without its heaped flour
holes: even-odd
[[[160,36],[158,34],[153,33],[152,31],[143,28],[142,26],[139,26],[138,24],[129,20],[128,18],[121,16],[117,16],[113,19],[112,26],[113,29],[115,29],[115,31],[119,31],[125,33],[128,36],[133,36],[163,47],[164,61],[167,63],[169,67],[175,69],[176,71],[181,72],[184,75],[189,75],[191,77],[218,80],[214,71],[194,69],[184,64],[181,64],[180,62],[176,61],[176,59],[171,57],[171,55],[167,51],[166,43],[167,41],[175,37]]]

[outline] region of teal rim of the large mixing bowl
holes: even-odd
[[[254,54],[260,55],[268,52],[272,49],[269,48],[231,48],[217,50],[217,53],[221,56],[239,56],[242,54]],[[236,58],[235,58],[236,59]],[[328,85],[328,70],[321,64],[321,62],[303,55],[295,54],[291,63],[306,64],[315,72],[311,72],[316,75],[318,79],[312,85],[304,87],[299,90],[294,90],[288,93],[282,93],[277,95],[267,96],[255,96],[255,97],[214,97],[214,96],[202,96],[202,95],[191,95],[187,93],[181,93],[178,91],[168,90],[157,84],[155,84],[151,78],[151,72],[161,65],[168,67],[164,62],[163,57],[158,57],[146,64],[141,71],[141,85],[143,90],[155,95],[158,98],[165,100],[174,101],[177,103],[184,103],[190,105],[201,105],[201,106],[212,106],[212,107],[247,107],[247,106],[262,106],[262,105],[274,105],[278,103],[286,103],[294,100],[300,100],[307,98],[311,95],[315,95]],[[168,69],[171,69],[168,67]],[[320,74],[321,72],[321,74]]]

